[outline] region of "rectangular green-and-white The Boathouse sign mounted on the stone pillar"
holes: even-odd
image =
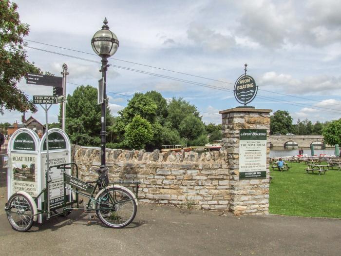
[[[239,132],[239,178],[266,177],[266,130]]]

